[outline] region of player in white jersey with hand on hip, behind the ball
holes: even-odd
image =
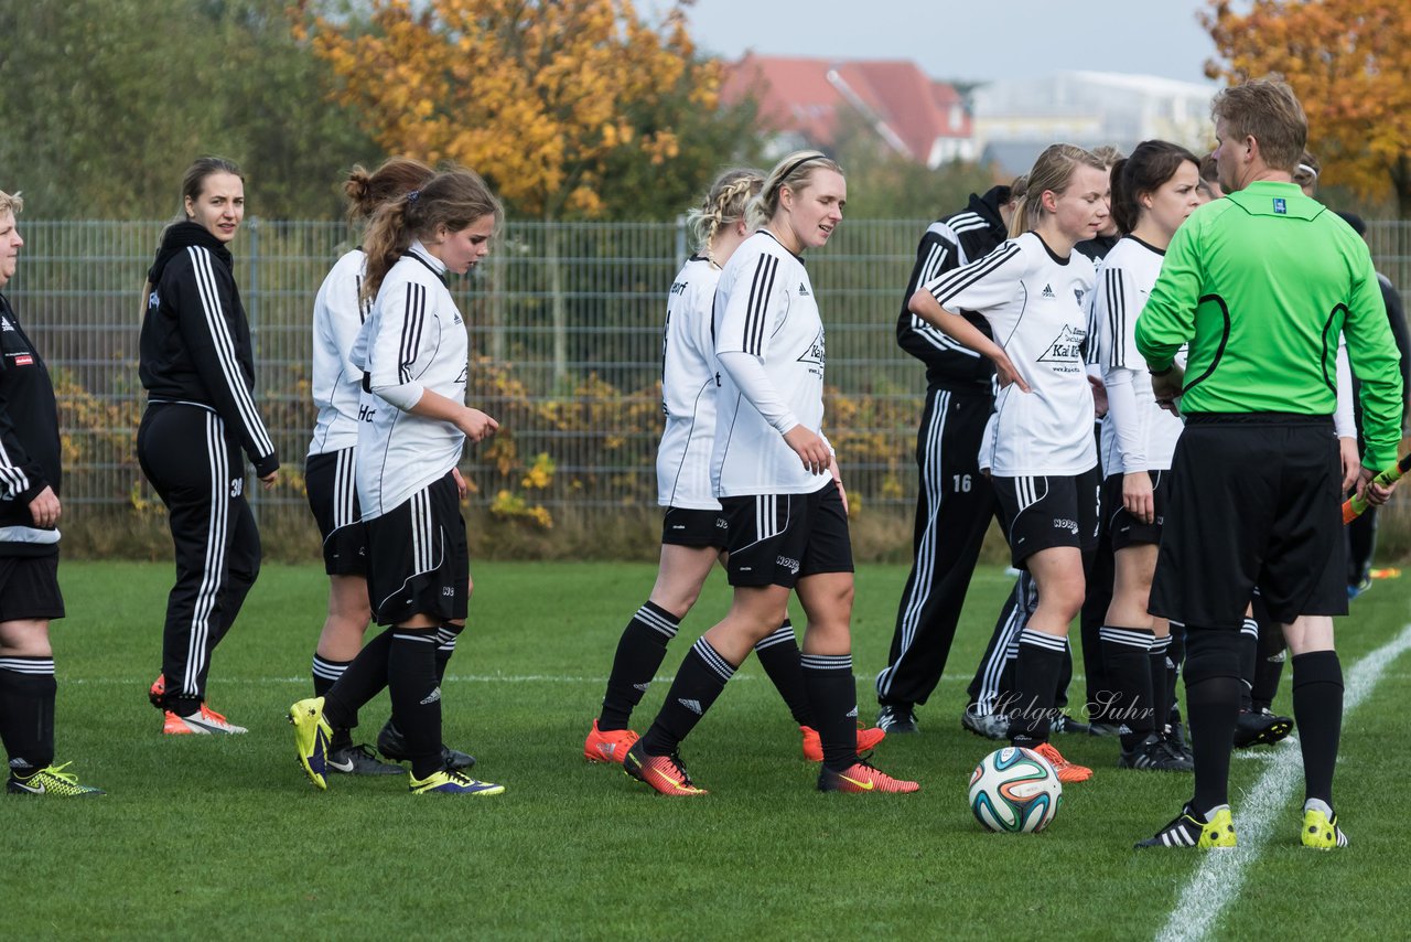
[[[1015,213],[1013,239],[912,295],[914,314],[995,362],[999,395],[991,479],[1015,566],[1038,604],[1019,637],[1009,736],[1040,751],[1062,781],[1092,771],[1048,743],[1068,624],[1084,600],[1082,552],[1098,537],[1092,388],[1082,360],[1092,263],[1074,251],[1108,219],[1108,174],[1070,144],[1040,154]],[[989,321],[993,340],[955,314]]]

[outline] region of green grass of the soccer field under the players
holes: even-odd
[[[864,719],[875,715],[871,681],[904,576],[879,565],[858,573]],[[508,787],[487,799],[412,798],[395,778],[334,777],[327,792],[305,781],[284,715],[308,695],[320,569],[268,566],[216,654],[210,702],[250,726],[241,737],[158,733],[145,691],[168,565],[75,562],[61,578],[71,617],[54,630],[59,761],[75,760],[109,795],[0,802],[11,866],[0,910],[14,938],[1151,938],[1204,859],[1132,850],[1175,813],[1189,781],[1119,771],[1112,740],[1058,740],[1096,774],[1067,789],[1048,832],[991,835],[974,821],[967,781],[991,744],[958,716],[1009,589],[999,569],[976,573],[923,733],[876,753],[920,794],[816,792],[787,712],[749,662],[684,746],[713,792],[700,801],[659,798],[581,758],[649,565],[476,566],[470,630],[444,685],[446,739]],[[1346,671],[1401,633],[1408,602],[1411,589],[1387,580],[1353,603],[1339,628]],[[663,672],[725,606],[717,573]],[[639,729],[665,689],[648,693]],[[1404,740],[1408,695],[1404,657],[1348,719],[1338,808],[1352,847],[1298,846],[1300,781],[1216,936],[1404,932],[1411,799],[1397,782],[1408,760],[1386,749]],[[385,703],[365,710],[367,737]],[[1287,672],[1277,705],[1288,708]],[[1236,758],[1236,826],[1242,792],[1270,761],[1267,749]]]

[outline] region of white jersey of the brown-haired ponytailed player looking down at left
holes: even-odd
[[[446,266],[412,243],[387,273],[353,349],[364,377],[357,441],[363,518],[380,517],[444,477],[466,435],[442,419],[404,412],[370,390],[416,384],[466,401],[470,342],[444,281]]]

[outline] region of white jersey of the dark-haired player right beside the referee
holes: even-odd
[[[1161,274],[1164,254],[1127,236],[1112,247],[1098,268],[1092,312],[1098,328],[1098,363],[1108,386],[1109,408],[1102,419],[1102,467],[1108,475],[1167,470],[1184,428],[1181,419],[1156,404],[1151,373],[1136,342],[1137,315]],[[1178,357],[1184,359],[1184,354]],[[1120,401],[1112,408],[1118,397]]]

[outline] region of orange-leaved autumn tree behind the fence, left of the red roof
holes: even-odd
[[[672,127],[638,133],[629,113],[689,89],[717,106],[720,64],[700,61],[682,4],[659,24],[631,0],[371,0],[365,23],[305,14],[298,35],[341,81],[378,144],[476,168],[545,220],[604,209],[602,177],[626,151],[677,154]],[[555,376],[567,325],[553,227],[546,233]]]

